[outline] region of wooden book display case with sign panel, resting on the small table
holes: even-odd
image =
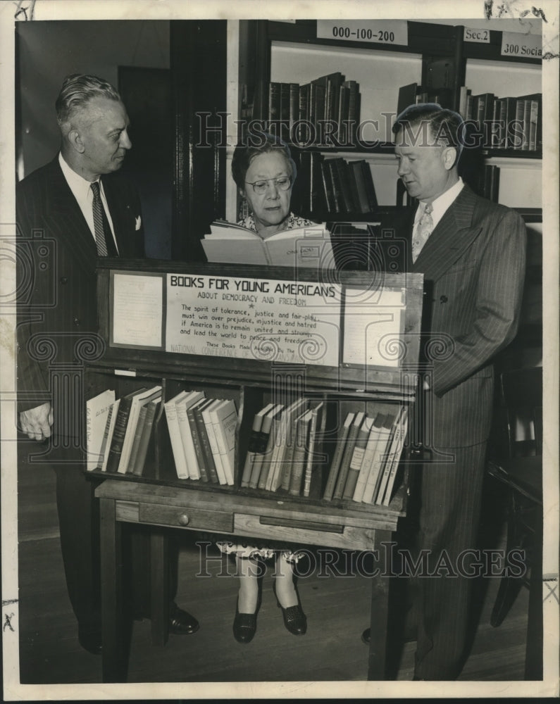
[[[403,511],[423,277],[296,272],[101,264],[89,472]]]

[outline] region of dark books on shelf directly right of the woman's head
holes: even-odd
[[[303,152],[296,184],[294,208],[300,213],[372,213],[378,207],[366,159],[347,161]]]

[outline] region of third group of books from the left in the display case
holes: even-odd
[[[241,486],[309,496],[313,472],[325,460],[325,417],[323,401],[310,404],[305,398],[261,408],[254,415]]]

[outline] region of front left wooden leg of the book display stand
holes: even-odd
[[[100,499],[101,530],[101,655],[104,682],[124,682],[127,675],[122,598],[122,527],[115,501]]]

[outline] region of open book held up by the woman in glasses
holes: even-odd
[[[201,240],[209,262],[334,268],[325,223],[293,227],[262,239],[254,230],[216,220]]]

